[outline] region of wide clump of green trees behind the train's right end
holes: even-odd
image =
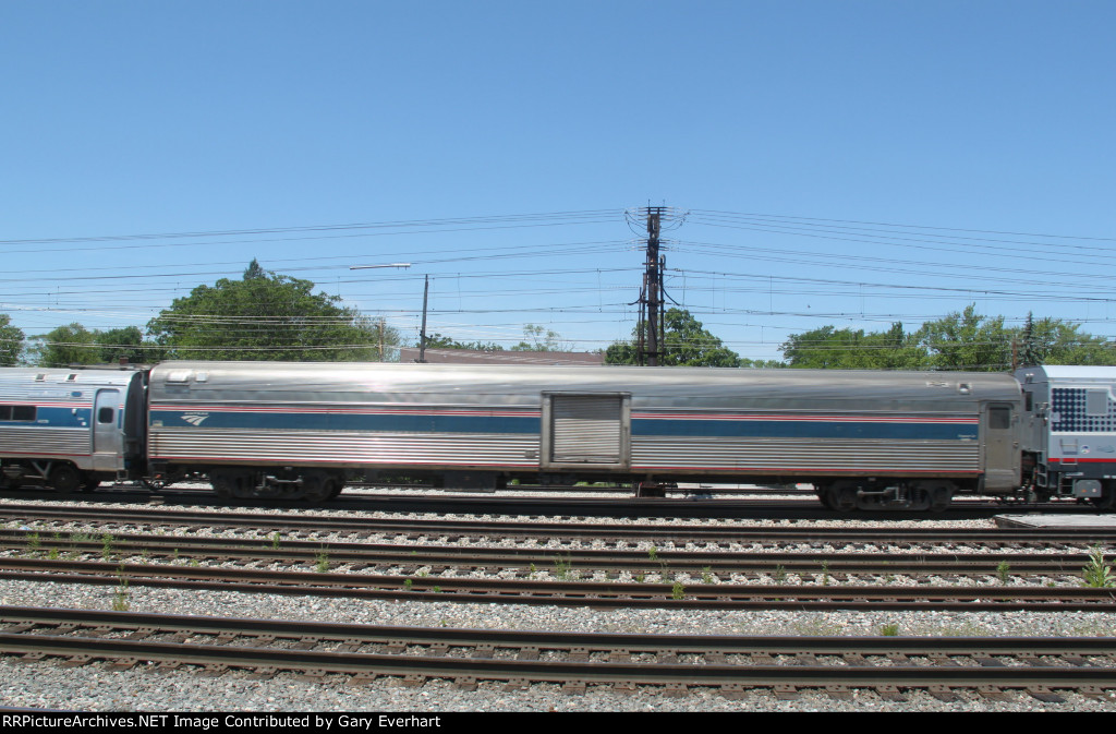
[[[1023,364],[1116,364],[1116,346],[1059,318],[1033,320],[1021,328],[1004,326],[1003,316],[964,311],[924,323],[908,333],[902,324],[886,332],[824,326],[791,335],[780,347],[793,368],[873,370],[1011,369],[1012,345]]]

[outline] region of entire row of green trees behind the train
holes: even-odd
[[[0,365],[106,364],[126,359],[151,364],[166,359],[385,361],[401,343],[383,320],[345,306],[339,296],[315,293],[310,280],[267,271],[254,259],[240,279],[222,278],[175,298],[146,328],[87,330],[79,323],[27,337],[0,314]],[[1001,372],[1012,364],[1116,364],[1116,343],[1059,318],[1033,318],[1009,327],[1003,316],[962,312],[908,331],[893,323],[878,332],[822,326],[790,335],[782,360],[741,358],[684,308],[666,311],[660,363],[666,366],[812,368],[864,370],[969,370]],[[503,351],[492,342],[430,335],[427,349]],[[523,341],[508,351],[570,351],[557,332],[527,324]],[[638,363],[638,334],[603,350],[608,364]]]

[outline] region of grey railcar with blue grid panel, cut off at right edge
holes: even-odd
[[[1038,498],[1116,504],[1116,368],[1035,366],[1016,372],[1024,399],[1024,482]]]

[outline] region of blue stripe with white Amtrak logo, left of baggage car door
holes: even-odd
[[[152,426],[239,430],[376,431],[405,433],[539,433],[533,416],[330,413],[152,410]]]

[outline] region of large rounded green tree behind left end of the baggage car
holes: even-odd
[[[147,331],[179,359],[375,361],[381,344],[398,344],[395,330],[339,302],[252,260],[240,280],[175,298]]]

